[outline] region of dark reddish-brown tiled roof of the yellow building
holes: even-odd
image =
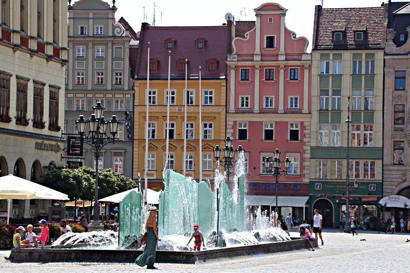
[[[150,59],[158,62],[156,72],[150,71],[151,78],[168,79],[169,49],[165,40],[173,38],[175,46],[171,49],[171,78],[185,79],[185,72],[177,71],[177,60],[188,59],[188,77],[198,77],[201,67],[201,78],[220,78],[226,76],[226,60],[229,51],[229,26],[210,27],[154,27],[142,23],[139,51],[136,68],[136,79],[147,78],[148,43],[150,43]],[[196,49],[197,38],[205,39],[204,49]],[[207,60],[218,61],[216,71],[207,71]]]

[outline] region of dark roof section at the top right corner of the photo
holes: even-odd
[[[410,2],[388,2],[387,29],[394,29],[396,36],[393,43],[401,47],[407,41],[408,32],[406,28],[410,25]],[[404,34],[404,39],[400,41],[400,34]]]

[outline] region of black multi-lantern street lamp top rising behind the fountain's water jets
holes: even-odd
[[[219,145],[216,145],[214,149],[215,161],[219,161],[218,164],[224,167],[227,175],[227,181],[229,181],[229,177],[231,176],[233,167],[235,166],[236,156],[245,151],[242,149],[242,145],[239,145],[238,149],[235,150],[232,146],[232,142],[233,140],[231,137],[227,136],[225,139],[225,147],[221,150]],[[223,152],[223,156],[219,159],[221,152]]]

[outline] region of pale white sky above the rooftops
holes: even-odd
[[[112,5],[110,0],[103,1]],[[138,32],[141,23],[154,25],[155,5],[155,26],[219,26],[226,23],[224,17],[228,12],[234,16],[235,21],[253,21],[256,18],[254,9],[271,2],[288,9],[286,27],[296,32],[297,37],[308,38],[310,52],[315,5],[320,5],[321,0],[205,0],[203,3],[192,0],[116,0],[115,17],[117,20],[124,17],[134,31]],[[387,0],[323,0],[323,8],[380,7],[383,2]]]

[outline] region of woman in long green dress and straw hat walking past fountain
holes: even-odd
[[[148,216],[145,229],[147,229],[147,245],[144,252],[135,260],[135,263],[139,266],[147,265],[147,269],[155,269],[155,250],[157,248],[157,241],[161,241],[158,238],[157,232],[157,220],[155,216],[158,214],[156,206],[150,207],[150,215]]]

